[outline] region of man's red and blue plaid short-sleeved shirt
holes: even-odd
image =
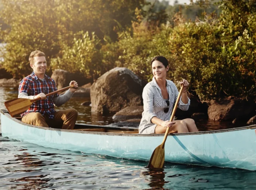
[[[52,78],[44,75],[44,81],[40,80],[34,73],[28,75],[23,80],[21,80],[19,85],[19,93],[27,93],[28,96],[36,96],[40,93],[48,94],[56,91],[56,85]],[[40,112],[42,115],[47,114],[50,119],[54,118],[54,105],[53,98],[58,97],[59,94],[56,93],[51,96],[47,96],[44,100],[35,101],[30,108],[25,111],[21,116],[27,115],[30,112]]]

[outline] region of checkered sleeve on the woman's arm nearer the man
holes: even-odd
[[[145,119],[151,122],[151,119],[156,116],[153,112],[153,102],[154,102],[154,93],[153,90],[150,89],[149,86],[145,86],[142,93],[143,98],[143,116]]]

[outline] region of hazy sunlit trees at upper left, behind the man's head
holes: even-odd
[[[1,3],[0,18],[10,26],[0,31],[0,39],[7,43],[5,49],[0,49],[4,58],[1,65],[20,78],[31,72],[28,63],[31,51],[43,51],[51,65],[52,58],[61,57],[62,47],[73,46],[74,34],[79,31],[95,32],[102,43],[117,40],[117,32],[131,26],[135,8],[142,7],[144,0],[1,0]]]

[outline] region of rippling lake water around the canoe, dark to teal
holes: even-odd
[[[0,108],[17,97],[16,89],[0,87]],[[112,117],[91,115],[86,98],[71,98],[59,109],[75,108],[78,123],[107,125]],[[198,121],[200,130],[234,127],[230,122]],[[236,124],[238,125],[238,124]],[[147,162],[57,150],[0,135],[0,189],[256,189],[256,172],[165,163],[148,169]]]

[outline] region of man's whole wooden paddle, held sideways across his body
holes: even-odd
[[[49,94],[46,94],[45,96],[51,96],[52,94],[56,94],[58,92],[68,90],[69,88],[74,87],[74,85],[67,86],[63,89],[56,90],[54,92],[51,92]],[[23,112],[27,111],[28,108],[33,104],[34,101],[40,100],[41,98],[35,98],[34,100],[30,100],[27,98],[14,98],[12,100],[8,100],[4,102],[5,107],[7,108],[9,114],[12,117],[18,116],[22,114]]]

